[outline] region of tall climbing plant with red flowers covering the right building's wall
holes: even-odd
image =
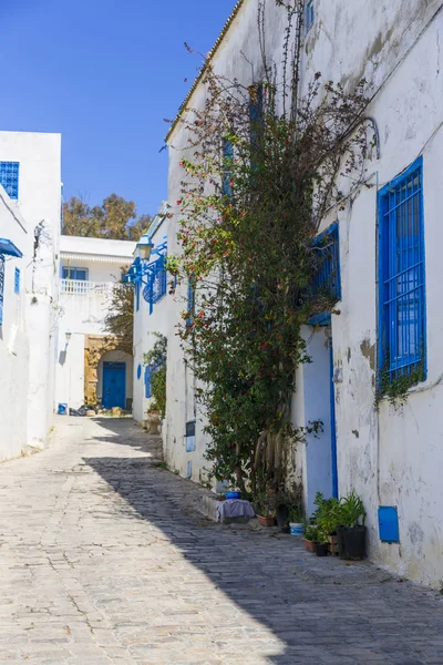
[[[348,193],[361,184],[369,149],[364,84],[344,92],[316,74],[300,96],[303,2],[276,4],[288,18],[281,81],[266,55],[261,4],[260,79],[245,88],[206,65],[205,106],[184,121],[182,253],[168,259],[194,294],[178,335],[212,473],[254,494],[281,488],[291,444],[321,428],[298,428],[289,415],[296,369],[309,361],[301,327],[333,306],[328,285],[312,288],[324,257],[312,238],[343,198],[338,183],[352,176]]]

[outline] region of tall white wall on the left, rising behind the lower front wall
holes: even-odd
[[[58,316],[59,236],[61,211],[61,136],[32,132],[0,132],[0,161],[19,162],[19,200],[14,208],[25,219],[24,316],[29,332],[28,443],[44,446],[54,397]],[[34,229],[40,225],[38,246]],[[6,237],[9,234],[6,233]],[[24,270],[23,270],[24,272]]]

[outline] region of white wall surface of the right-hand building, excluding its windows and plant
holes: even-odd
[[[213,64],[228,78],[250,84],[261,75],[256,30],[258,0],[245,0],[230,30],[218,48]],[[284,34],[280,10],[267,4],[267,51],[278,57]],[[280,18],[278,18],[280,17]],[[313,73],[341,82],[347,89],[365,76],[373,95],[368,114],[380,133],[380,160],[368,164],[370,188],[360,192],[353,205],[333,209],[324,227],[339,222],[342,301],[340,315],[332,316],[339,487],[341,493],[354,488],[368,511],[369,554],[378,563],[419,582],[439,585],[443,579],[443,487],[439,470],[443,464],[443,308],[441,306],[443,226],[440,195],[443,187],[442,134],[442,43],[443,11],[440,0],[317,0],[316,21],[303,49],[301,89],[307,90]],[[246,54],[244,59],[240,53]],[[249,63],[248,63],[248,62]],[[251,63],[251,64],[250,64]],[[199,83],[189,106],[202,108],[204,84]],[[173,219],[169,252],[179,250],[175,241],[182,171],[178,165],[186,146],[184,126],[178,123],[169,144],[169,203]],[[402,413],[389,405],[374,409],[377,369],[377,190],[423,155],[427,365],[424,385],[411,391]],[[174,326],[184,309],[186,285],[177,289],[168,308],[168,405],[166,458],[185,474],[187,456],[183,446],[186,418],[185,366]],[[324,356],[300,368],[292,405],[295,423],[312,412],[328,418],[326,392],[317,395],[316,383],[324,386]],[[326,437],[326,432],[324,432]],[[313,443],[315,446],[316,443]],[[205,441],[197,437],[193,479],[203,468]],[[308,508],[309,485],[316,477],[318,459],[298,450],[303,463]],[[324,477],[321,482],[327,484]],[[324,487],[326,487],[324,484]],[[400,545],[383,544],[378,535],[379,505],[396,505]]]

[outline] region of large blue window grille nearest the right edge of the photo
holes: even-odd
[[[379,368],[426,375],[423,161],[379,193]]]

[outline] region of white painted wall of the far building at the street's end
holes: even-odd
[[[55,407],[68,403],[69,408],[78,409],[84,403],[84,338],[85,335],[105,334],[104,318],[110,311],[112,288],[120,282],[122,268],[132,263],[134,247],[135,243],[128,241],[61,236],[60,275],[63,266],[87,268],[87,282],[92,284],[89,293],[72,294],[63,293],[61,280]],[[68,330],[72,337],[66,346]],[[127,366],[126,398],[131,399],[132,358],[124,360]],[[102,365],[99,381],[101,386]]]

